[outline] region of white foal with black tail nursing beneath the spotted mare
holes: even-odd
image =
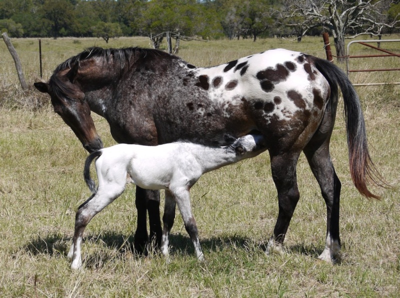
[[[82,265],[80,244],[86,225],[94,215],[122,194],[126,182],[144,189],[165,190],[162,253],[168,255],[168,235],[175,217],[176,203],[196,256],[202,260],[197,225],[190,209],[190,187],[203,173],[265,151],[263,143],[261,135],[246,135],[225,147],[185,142],[158,146],[118,144],[91,153],[85,162],[84,178],[92,195],[76,212],[73,242],[68,253],[68,258],[72,260],[71,269],[79,269]],[[97,189],[89,173],[90,164],[95,158]],[[130,178],[126,179],[127,176]]]

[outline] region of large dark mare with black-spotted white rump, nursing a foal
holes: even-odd
[[[303,152],[326,203],[325,247],[319,255],[326,261],[340,250],[340,181],[329,154],[340,89],[352,181],[362,195],[378,198],[367,188],[368,180],[381,180],[368,153],[358,95],[343,71],[326,60],[274,49],[197,68],[158,50],[94,47],[34,86],[49,94],[54,111],[89,152],[102,147],[90,111],[108,121],[118,143],[182,139],[222,146],[225,134],[238,138],[258,131],[266,140],[279,207],[267,253],[282,249],[299,200],[296,163]],[[148,240],[146,210],[151,239],[160,245],[159,192],[136,187],[135,204],[135,249],[142,250]]]

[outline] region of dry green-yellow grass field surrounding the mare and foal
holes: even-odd
[[[394,39],[398,37],[388,37]],[[38,42],[12,40],[31,86],[40,79]],[[43,39],[43,80],[57,64],[89,46],[148,47],[144,38]],[[321,38],[294,42],[266,39],[186,42],[179,56],[216,65],[286,48],[324,58]],[[382,45],[383,46],[383,45]],[[384,45],[400,52],[398,43]],[[353,53],[371,53],[354,47]],[[371,53],[372,54],[372,53]],[[392,68],[398,58],[355,60],[355,68]],[[344,65],[340,65],[345,68]],[[12,59],[0,43],[0,296],[1,297],[397,297],[400,295],[400,88],[356,87],[362,101],[371,156],[392,189],[372,187],[381,201],[362,198],[348,171],[342,101],[331,156],[342,182],[337,264],[318,261],[324,247],[325,205],[302,155],[297,166],[300,201],[286,235],[285,255],[266,256],[263,244],[277,216],[268,153],[205,174],[191,190],[206,261],[195,259],[180,215],[172,228],[171,262],[137,257],[133,241],[134,187],[98,214],[85,230],[84,270],[72,272],[66,258],[76,208],[89,196],[82,179],[87,153],[48,98],[22,93]],[[400,74],[358,73],[360,82],[399,82]],[[104,145],[112,140],[94,115]],[[162,205],[161,201],[161,205]]]

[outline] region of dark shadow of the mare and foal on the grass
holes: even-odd
[[[143,254],[138,254],[133,249],[133,235],[125,235],[115,231],[103,231],[100,234],[89,233],[83,238],[83,243],[100,241],[105,247],[116,251],[117,255],[122,256],[131,254],[134,257],[143,257],[148,254],[154,255],[157,250],[150,246]],[[23,249],[32,255],[45,254],[50,257],[64,256],[66,257],[69,247],[72,243],[72,237],[59,233],[51,233],[45,236],[36,235],[23,245]],[[239,235],[225,235],[218,237],[202,238],[200,245],[205,253],[219,252],[229,247],[236,247],[246,251],[265,251],[267,241],[255,242],[252,239]],[[84,244],[83,244],[84,245]],[[300,243],[285,247],[285,251],[289,254],[302,254],[316,259],[322,252],[322,246],[313,244]],[[171,255],[195,255],[193,244],[187,235],[182,233],[171,234],[169,236],[169,252]],[[115,252],[112,253],[115,255]],[[86,260],[87,267],[98,267],[98,264],[104,263],[111,257],[111,253],[101,253],[97,256],[89,256]],[[339,254],[335,260],[335,264],[340,264],[342,257]]]

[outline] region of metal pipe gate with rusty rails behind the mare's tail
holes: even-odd
[[[379,49],[377,47],[374,47],[372,45],[369,45],[367,43],[390,43],[390,42],[400,42],[400,40],[366,40],[366,41],[351,41],[347,45],[347,56],[346,56],[346,68],[347,68],[347,77],[350,73],[355,73],[355,72],[386,72],[386,71],[399,71],[400,68],[389,68],[389,69],[361,69],[361,70],[350,70],[349,69],[349,60],[350,58],[369,58],[369,57],[399,57],[400,54],[392,53],[387,50]],[[363,46],[375,49],[377,51],[382,52],[381,54],[377,55],[355,55],[351,56],[350,55],[350,46],[354,43],[361,44]],[[384,53],[384,54],[383,54]],[[400,65],[397,64],[397,65]],[[367,84],[353,84],[353,86],[373,86],[373,85],[400,85],[400,82],[395,82],[395,83],[367,83]]]

